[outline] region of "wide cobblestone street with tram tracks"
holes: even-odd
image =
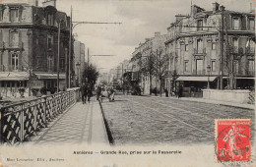
[[[253,110],[174,98],[117,95],[102,108],[117,145],[213,144],[215,119],[221,118],[251,119],[254,126]]]

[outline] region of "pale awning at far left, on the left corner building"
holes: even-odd
[[[0,81],[27,81],[29,73],[27,72],[0,72]]]

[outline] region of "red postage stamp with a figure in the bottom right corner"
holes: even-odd
[[[251,122],[249,119],[216,120],[218,162],[251,160]]]

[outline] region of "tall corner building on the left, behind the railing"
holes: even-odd
[[[61,90],[66,87],[69,23],[70,18],[54,6],[0,4],[2,95],[15,94],[21,87],[26,92],[32,88],[57,87],[59,26],[59,86]]]

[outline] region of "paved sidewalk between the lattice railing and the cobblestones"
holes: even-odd
[[[109,144],[102,113],[96,100],[77,102],[34,139],[35,144],[101,143]]]

